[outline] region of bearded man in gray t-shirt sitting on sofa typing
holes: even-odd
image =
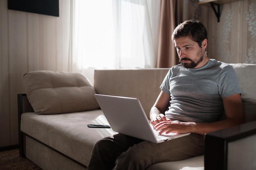
[[[204,154],[204,134],[241,124],[243,109],[232,66],[206,55],[207,31],[198,21],[178,25],[172,35],[181,64],[167,73],[150,110],[159,134],[190,135],[155,144],[123,134],[98,141],[88,170],[144,170],[164,162]],[[226,118],[218,120],[225,112]]]

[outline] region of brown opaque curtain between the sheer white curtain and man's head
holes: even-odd
[[[170,68],[179,62],[171,35],[183,22],[182,9],[182,0],[161,0],[157,68]]]

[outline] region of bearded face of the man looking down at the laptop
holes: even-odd
[[[208,61],[207,56],[203,53],[203,49],[207,46],[203,45],[204,41],[201,48],[197,42],[191,40],[189,37],[177,38],[174,40],[174,43],[180,63],[185,68],[200,68],[205,64],[203,61]]]

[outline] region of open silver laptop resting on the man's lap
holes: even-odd
[[[190,134],[171,133],[168,135],[159,135],[153,126],[150,125],[150,121],[137,98],[99,94],[95,94],[95,98],[112,130],[115,132],[154,143],[160,143]]]

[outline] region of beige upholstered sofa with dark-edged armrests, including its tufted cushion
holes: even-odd
[[[245,123],[205,134],[204,155],[156,163],[146,170],[256,168],[256,64],[231,65],[243,93]],[[20,155],[43,170],[85,170],[95,142],[117,133],[88,128],[108,124],[94,94],[136,97],[149,118],[167,72],[168,68],[95,70],[93,86],[81,73],[25,73],[25,94],[18,94]]]

